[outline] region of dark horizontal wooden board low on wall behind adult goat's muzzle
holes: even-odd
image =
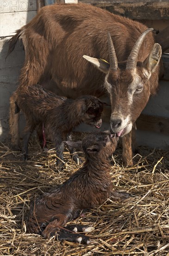
[[[106,107],[103,111],[102,121],[109,123],[110,116],[111,108]],[[136,126],[138,130],[169,135],[169,118],[141,114],[136,121]]]

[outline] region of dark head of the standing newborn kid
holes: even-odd
[[[94,96],[81,96],[77,98],[81,105],[81,120],[89,125],[100,128],[102,125],[101,114],[103,112],[104,102]]]

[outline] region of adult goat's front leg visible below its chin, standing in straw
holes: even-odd
[[[132,166],[132,147],[131,147],[131,133],[126,134],[122,137],[123,143],[123,153],[122,153],[122,161],[125,166]]]

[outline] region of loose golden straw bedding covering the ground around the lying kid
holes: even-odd
[[[25,216],[35,196],[64,182],[80,166],[71,161],[59,172],[55,152],[40,152],[38,142],[30,143],[30,160],[21,161],[20,152],[0,144],[0,255],[23,256],[169,256],[169,152],[139,148],[132,168],[123,168],[121,149],[112,158],[114,188],[134,197],[124,202],[107,199],[102,205],[82,212],[73,223],[90,224],[91,243],[58,242],[28,234]],[[82,155],[82,159],[83,155]],[[69,224],[68,223],[68,224]]]

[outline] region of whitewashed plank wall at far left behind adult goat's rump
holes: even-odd
[[[20,42],[8,56],[8,40],[37,14],[36,0],[0,0],[0,139],[8,139],[9,97],[15,90],[25,52]]]

